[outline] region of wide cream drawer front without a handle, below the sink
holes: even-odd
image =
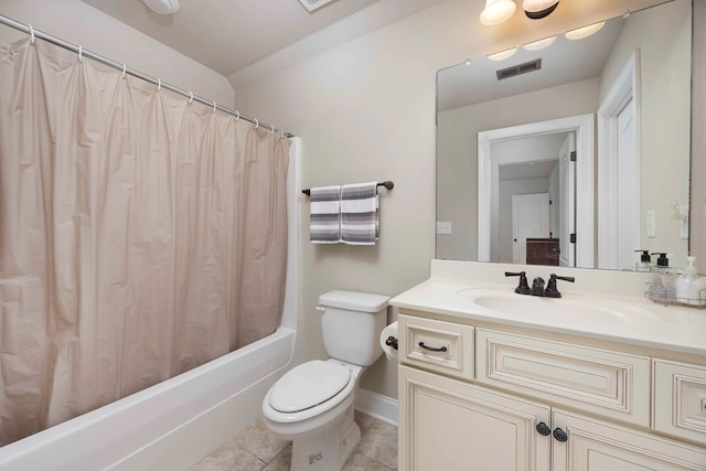
[[[650,425],[650,358],[477,330],[479,383]]]

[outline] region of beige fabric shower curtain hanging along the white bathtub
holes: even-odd
[[[274,332],[290,141],[0,46],[0,445]]]

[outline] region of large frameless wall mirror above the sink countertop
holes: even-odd
[[[674,0],[439,71],[436,257],[684,266],[691,32]]]

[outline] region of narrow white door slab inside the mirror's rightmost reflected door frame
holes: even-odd
[[[635,250],[641,248],[638,247],[640,168],[635,152],[634,110],[634,100],[631,99],[618,115],[618,266],[612,267],[618,269],[633,268]]]

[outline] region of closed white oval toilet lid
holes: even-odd
[[[351,371],[314,360],[287,372],[272,387],[269,405],[280,413],[298,413],[325,403],[351,381]]]

